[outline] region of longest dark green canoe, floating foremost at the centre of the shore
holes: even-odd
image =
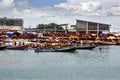
[[[76,47],[74,46],[67,46],[67,47],[60,47],[60,48],[52,48],[52,49],[40,49],[40,48],[36,48],[35,52],[71,52],[71,51],[75,51]]]

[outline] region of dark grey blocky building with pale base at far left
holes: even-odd
[[[0,18],[0,30],[22,30],[23,19],[19,18]]]

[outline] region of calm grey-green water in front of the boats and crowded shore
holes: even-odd
[[[75,52],[0,51],[0,80],[120,80],[120,46]]]

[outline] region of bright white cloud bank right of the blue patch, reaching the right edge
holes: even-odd
[[[119,16],[119,7],[113,7],[119,4],[119,0],[67,0],[54,7],[82,16]]]

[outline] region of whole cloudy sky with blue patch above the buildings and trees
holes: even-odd
[[[120,31],[120,0],[0,0],[0,17],[22,18],[25,28],[53,22],[75,25],[80,19]]]

